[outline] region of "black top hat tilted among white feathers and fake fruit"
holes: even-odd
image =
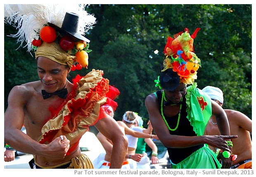
[[[72,12],[66,12],[64,20],[62,22],[62,27],[59,28],[59,26],[56,26],[55,24],[48,23],[50,26],[55,28],[57,31],[62,31],[64,33],[67,33],[75,38],[78,38],[80,40],[83,40],[87,43],[90,42],[89,39],[85,38],[83,35],[77,33],[78,30],[78,22],[79,22],[79,16]]]

